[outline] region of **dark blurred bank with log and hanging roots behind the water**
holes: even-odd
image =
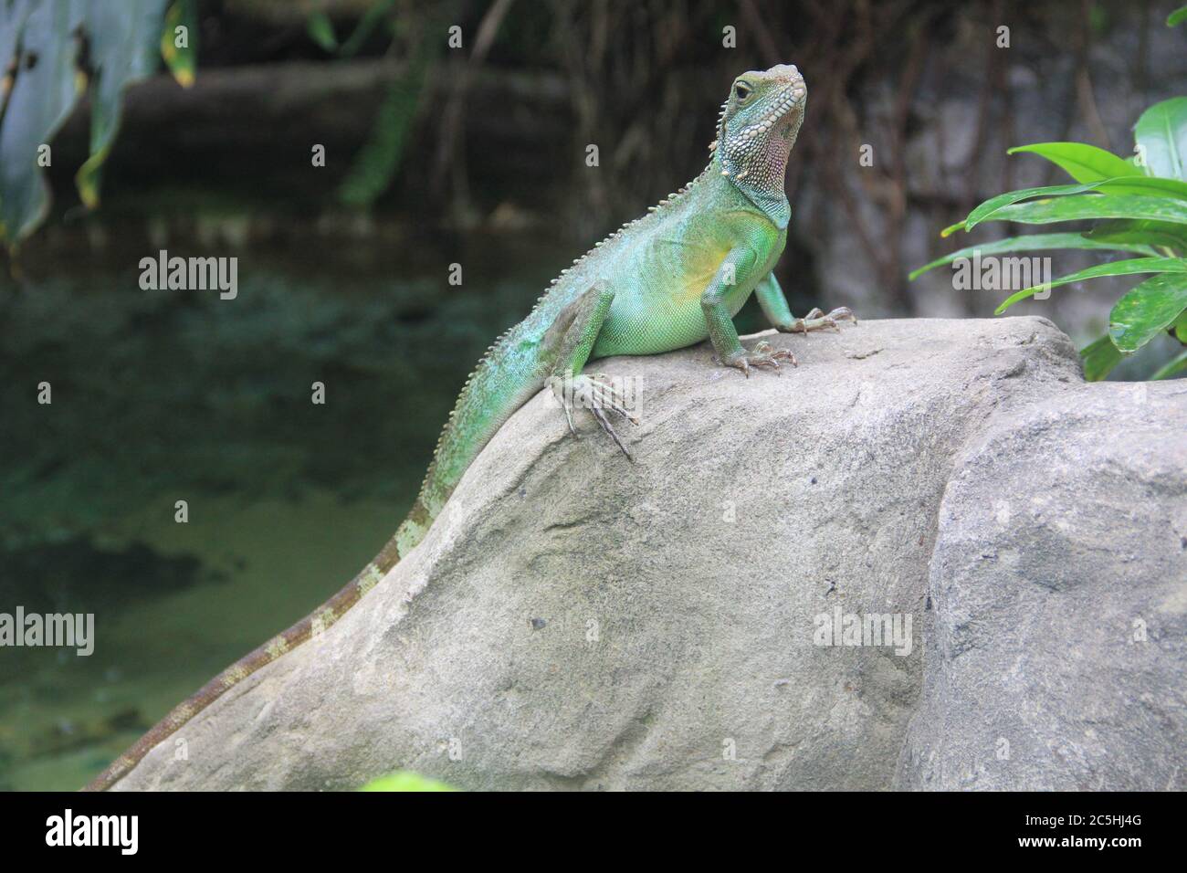
[[[348,56],[310,36],[312,11],[345,43],[375,6],[201,2],[198,83],[132,89],[104,219],[184,226],[222,205],[248,219],[241,241],[285,245],[385,217],[438,233],[537,224],[583,248],[699,171],[737,72],[791,61],[810,86],[787,183],[798,284],[827,296],[836,280],[821,271],[844,247],[837,260],[876,279],[880,311],[926,312],[906,272],[954,246],[935,229],[990,194],[1059,177],[1035,158],[1007,160],[1008,146],[1077,139],[1128,154],[1141,109],[1187,88],[1187,30],[1168,30],[1168,4],[1147,0],[396,0],[395,26]],[[461,50],[445,44],[455,24]],[[728,25],[734,50],[722,48]],[[52,179],[69,227],[84,221],[66,208],[84,114],[58,139]],[[324,172],[310,172],[312,143],[328,148]],[[590,143],[596,170],[583,162]],[[863,144],[872,167],[857,164]]]

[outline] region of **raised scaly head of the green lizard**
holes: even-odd
[[[734,80],[717,125],[722,173],[740,188],[782,197],[787,156],[804,121],[807,93],[804,76],[791,64]]]

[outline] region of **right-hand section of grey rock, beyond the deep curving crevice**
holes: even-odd
[[[1187,382],[1079,385],[960,454],[902,787],[1187,787]]]

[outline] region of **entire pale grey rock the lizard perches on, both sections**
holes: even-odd
[[[465,789],[1182,787],[1187,386],[1084,385],[1041,318],[772,342],[799,368],[743,379],[705,344],[599,362],[642,380],[635,463],[535,397],[357,607],[116,787],[396,768]],[[897,645],[818,645],[845,615],[886,616]]]

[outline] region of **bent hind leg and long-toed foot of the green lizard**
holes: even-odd
[[[594,283],[560,311],[545,334],[541,347],[550,365],[548,387],[565,411],[569,429],[577,434],[573,410],[588,409],[622,454],[630,458],[630,451],[610,422],[611,416],[617,416],[639,424],[629,399],[605,377],[582,373],[612,303],[614,290],[609,284]]]

